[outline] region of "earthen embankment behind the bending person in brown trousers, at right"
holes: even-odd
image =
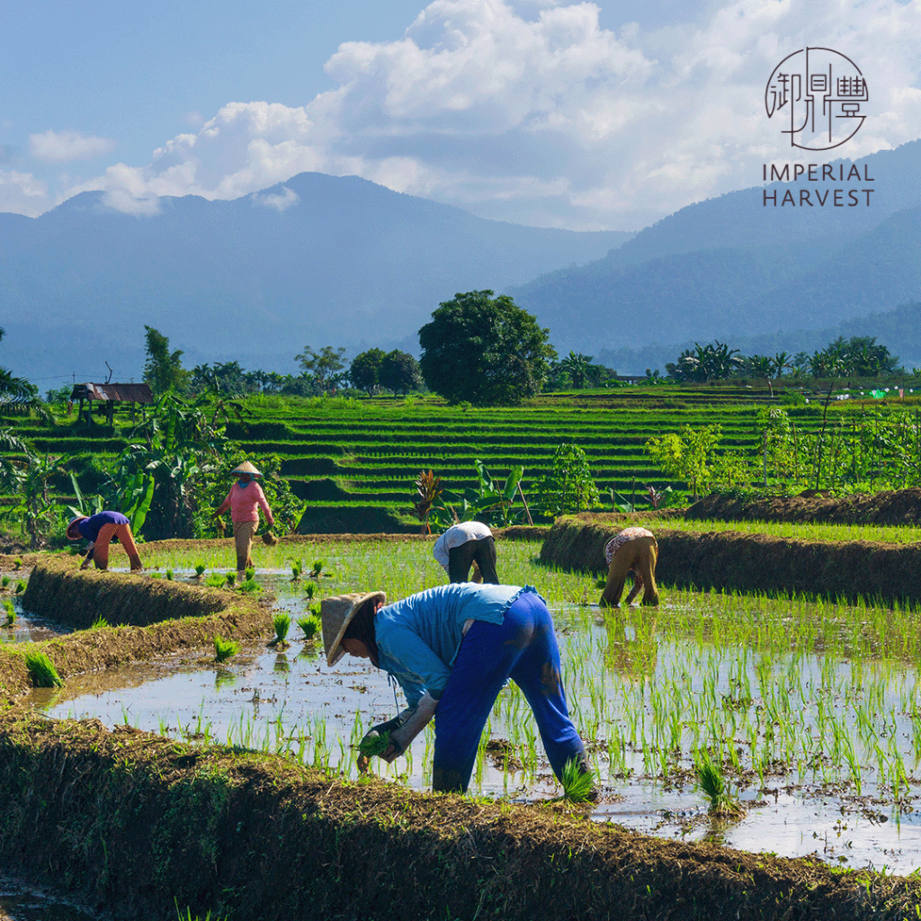
[[[603,575],[604,545],[629,522],[584,512],[557,519],[541,562]],[[693,533],[644,525],[659,542],[656,578],[673,588],[921,602],[921,544],[798,541],[736,531]]]

